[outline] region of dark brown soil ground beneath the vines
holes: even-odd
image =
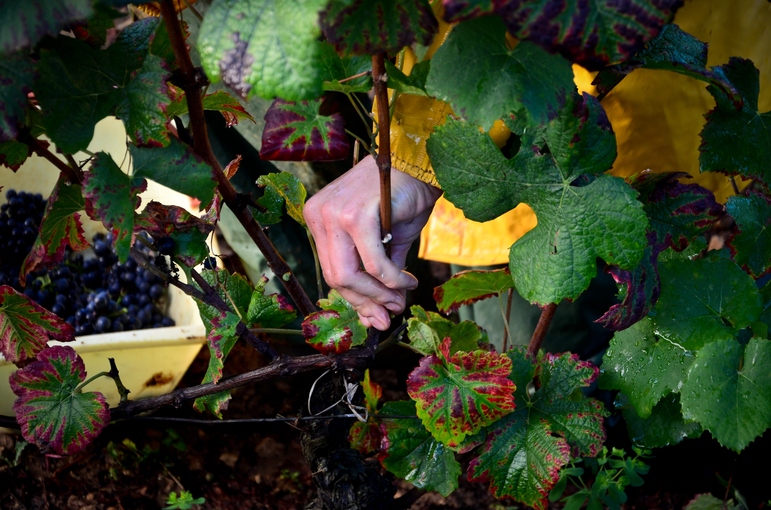
[[[375,361],[372,379],[383,386],[384,400],[407,398],[404,381],[409,367],[415,365],[412,357],[409,351],[389,347]],[[198,384],[207,362],[208,351],[204,349],[182,385]],[[253,370],[264,362],[255,351],[236,347],[225,365],[225,375]],[[303,374],[239,388],[225,417],[295,415],[317,375]],[[180,409],[161,409],[155,416],[210,418],[197,414],[190,404]],[[628,446],[623,420],[616,421],[608,428],[608,444]],[[749,508],[762,508],[762,502],[768,499],[763,495],[768,438],[759,439],[739,457],[705,436],[656,451],[645,485],[628,488],[630,498],[625,508],[679,509],[700,492],[722,495],[725,489],[715,473],[723,478],[733,475],[734,484],[751,502]],[[13,460],[15,443],[20,440],[20,435],[0,434],[0,455]],[[473,453],[460,460],[467,464],[470,458]],[[0,464],[0,508],[4,510],[154,510],[165,507],[167,495],[179,493],[182,488],[192,492],[194,498],[206,498],[206,503],[197,508],[290,510],[302,508],[314,492],[311,473],[301,454],[299,431],[285,423],[199,425],[125,420],[110,425],[93,445],[72,458],[46,459],[30,445],[22,451],[19,465]],[[400,495],[412,486],[397,482],[397,487]],[[576,489],[568,488],[566,494],[571,490]],[[550,508],[561,506],[550,504]],[[524,507],[511,500],[498,501],[484,485],[466,481],[464,472],[460,488],[448,498],[428,493],[412,508]]]

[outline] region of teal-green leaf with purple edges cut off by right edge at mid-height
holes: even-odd
[[[733,260],[757,280],[771,269],[771,200],[756,191],[729,196],[726,213],[736,220],[736,235],[728,243]]]

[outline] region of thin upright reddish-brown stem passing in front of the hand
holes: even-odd
[[[388,104],[388,75],[385,74],[384,54],[372,55],[372,81],[378,102],[378,169],[380,170],[380,238],[386,257],[391,257],[391,118]]]

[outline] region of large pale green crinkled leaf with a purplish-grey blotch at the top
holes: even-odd
[[[197,41],[206,75],[244,98],[317,98],[322,92],[318,11],[325,4],[214,0]]]

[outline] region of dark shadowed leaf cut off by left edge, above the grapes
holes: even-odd
[[[8,21],[5,18],[2,19],[4,20],[4,28],[8,29],[8,25],[5,25]],[[19,127],[24,124],[27,103],[29,102],[27,95],[32,92],[32,82],[35,79],[35,62],[32,62],[27,53],[29,52],[22,51],[10,55],[0,55],[0,76],[2,76],[2,80],[0,80],[0,104],[2,104],[0,142],[8,143],[9,140],[15,140],[16,136],[19,135]],[[26,153],[27,146],[24,146],[24,149]],[[2,153],[8,154],[7,150],[2,150]],[[18,149],[16,152],[20,153],[21,150]],[[24,159],[22,159],[22,163]],[[9,168],[11,165],[5,163],[5,166]]]

